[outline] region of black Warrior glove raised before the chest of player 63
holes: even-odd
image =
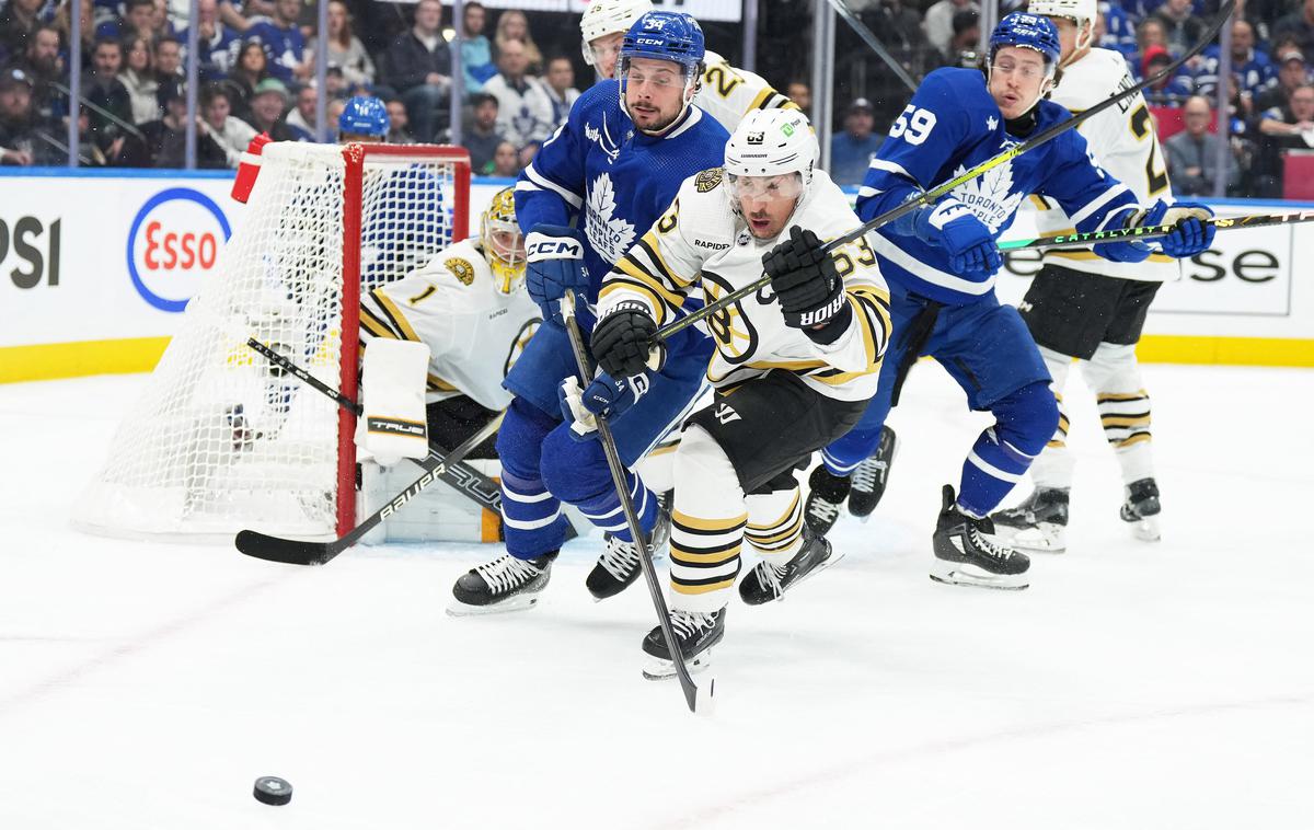
[[[816,234],[794,226],[790,238],[762,257],[762,269],[771,277],[784,324],[830,343],[844,331],[851,310],[834,259],[821,247]],[[841,324],[832,328],[830,323]]]

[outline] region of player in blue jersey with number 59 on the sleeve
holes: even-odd
[[[863,219],[1022,143],[1070,113],[1045,100],[1054,85],[1059,37],[1045,17],[1013,13],[991,35],[984,72],[943,68],[926,76],[871,162],[858,194]],[[1099,148],[1096,148],[1099,150]],[[1141,210],[1134,194],[1068,130],[1000,164],[871,234],[890,284],[895,339],[880,385],[862,422],[823,453],[811,478],[809,521],[829,528],[848,489],[846,474],[876,448],[899,386],[920,355],[930,355],[967,393],[972,410],[995,415],[963,464],[959,491],[943,489],[933,537],[932,579],[999,588],[1028,586],[1029,561],[992,538],[988,519],[1054,435],[1058,408],[1050,374],[1026,326],[995,297],[1001,265],[997,236],[1029,193],[1060,204],[1077,231],[1176,223],[1162,240],[1169,256],[1209,247],[1212,215],[1202,205],[1159,201]],[[1095,246],[1099,256],[1141,261],[1141,242]]]

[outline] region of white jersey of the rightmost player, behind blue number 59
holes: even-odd
[[[1120,53],[1092,49],[1088,55],[1063,68],[1063,77],[1050,98],[1080,113],[1134,85],[1135,81],[1127,74],[1127,62]],[[1160,198],[1172,202],[1163,148],[1155,135],[1150,109],[1139,92],[1091,117],[1077,127],[1077,133],[1085,138],[1100,167],[1127,185],[1142,207],[1148,207]],[[1053,198],[1033,196],[1031,201],[1039,209],[1037,223],[1041,235],[1074,232],[1072,219]],[[1151,282],[1175,280],[1180,268],[1176,260],[1158,252],[1143,263],[1113,263],[1096,256],[1091,248],[1047,251],[1045,263],[1085,273]]]

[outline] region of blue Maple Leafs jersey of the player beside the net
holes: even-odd
[[[615,80],[581,95],[515,185],[515,215],[527,234],[578,218],[587,240],[590,302],[611,265],[670,205],[679,183],[721,164],[729,139],[696,106],[665,134],[646,135],[635,129],[619,96]]]

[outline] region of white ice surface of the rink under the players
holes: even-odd
[[[1068,553],[992,592],[926,578],[984,418],[920,365],[842,563],[733,599],[710,720],[640,678],[643,587],[585,591],[597,537],[539,608],[451,619],[493,548],[297,569],[70,529],[143,381],[0,386],[0,827],[1314,826],[1314,372],[1146,368],[1159,544],[1074,380]]]

